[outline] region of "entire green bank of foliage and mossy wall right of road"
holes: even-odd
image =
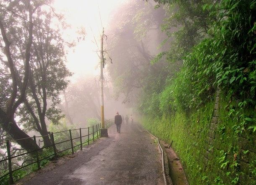
[[[198,1],[197,8],[204,11],[202,15],[208,29],[204,31],[201,27],[202,34],[193,35],[195,38],[191,40],[186,36],[191,32],[183,23],[187,19],[196,25],[194,18],[198,18],[198,14],[193,14],[196,5],[188,8],[180,0],[156,2],[170,5],[169,10],[176,11],[170,11],[173,14],[166,19],[163,29],[167,36],[175,36],[172,46],[180,47],[170,48],[166,59],[177,62],[183,58],[183,66],[174,77],[167,79],[161,92],[154,94],[154,99],[159,99],[160,111],[145,111],[149,118],[144,126],[161,139],[174,141],[173,148],[183,161],[190,184],[254,184],[255,161],[249,158],[248,162],[244,161],[253,152],[243,151],[241,142],[254,141],[256,131],[256,1],[224,0],[214,4]],[[183,19],[184,10],[188,13]],[[180,29],[173,33],[171,29],[175,24]],[[157,57],[162,56],[160,53]],[[217,89],[222,92],[218,97],[219,107],[214,106]],[[146,97],[152,100],[151,95]],[[213,129],[210,124],[214,109],[219,114],[218,128],[209,131],[210,127]],[[208,141],[209,135],[213,141]],[[202,146],[206,141],[209,146]],[[198,160],[198,156],[207,156],[206,164],[204,159]],[[205,170],[201,170],[204,167]]]

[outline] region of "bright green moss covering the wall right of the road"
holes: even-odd
[[[256,163],[252,158],[249,160],[254,153],[243,149],[244,143],[250,141],[243,137],[243,144],[240,143],[243,135],[240,123],[223,107],[227,104],[226,98],[223,95],[220,98],[217,124],[213,123],[214,102],[189,115],[176,112],[163,118],[143,120],[144,127],[159,139],[173,141],[172,148],[183,164],[190,185],[256,182]],[[243,181],[246,177],[248,180]]]

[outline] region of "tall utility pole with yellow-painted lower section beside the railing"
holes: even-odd
[[[104,81],[104,77],[103,77],[103,67],[104,67],[104,55],[103,55],[103,37],[106,36],[104,35],[104,28],[102,31],[102,36],[101,36],[101,55],[100,55],[100,95],[101,95],[101,124],[102,124],[102,128],[100,129],[100,135],[101,137],[108,137],[108,133],[107,133],[107,128],[105,128],[105,124],[104,124],[104,94],[103,94],[103,81]]]

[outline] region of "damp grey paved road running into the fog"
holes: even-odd
[[[150,135],[136,124],[115,125],[107,138],[77,152],[67,162],[19,185],[162,185],[160,154]]]

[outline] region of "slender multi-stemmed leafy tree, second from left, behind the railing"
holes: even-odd
[[[27,96],[30,101],[25,100],[23,109],[19,116],[21,122],[27,122],[27,128],[38,131],[42,136],[48,135],[46,118],[53,124],[57,124],[64,116],[60,115],[61,110],[57,108],[60,103],[59,94],[67,85],[67,77],[71,73],[66,68],[64,44],[62,39],[56,39],[60,30],[51,29],[48,25],[52,22],[53,12],[38,8],[36,11],[37,26],[44,29],[41,32],[38,27],[34,30],[35,39],[33,42],[33,51],[31,52],[31,67],[29,76],[29,89]],[[40,19],[45,15],[44,20]],[[47,106],[48,105],[48,106]],[[25,115],[25,116],[24,116]],[[44,138],[44,145],[51,144],[50,138]]]

